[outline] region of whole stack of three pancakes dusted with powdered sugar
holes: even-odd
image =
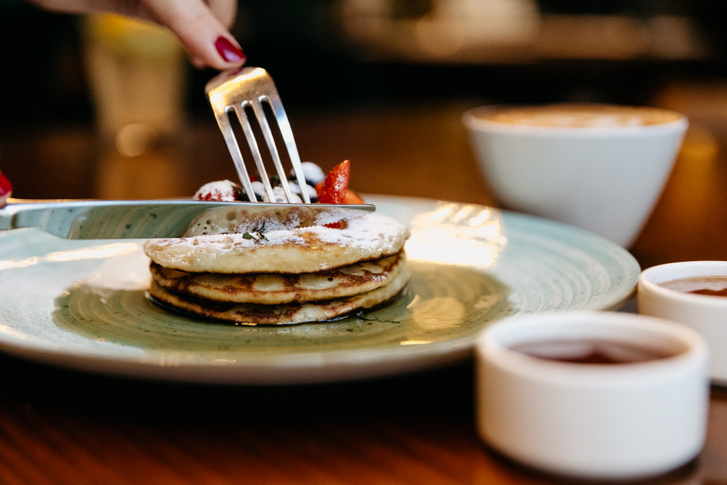
[[[237,325],[329,321],[399,295],[408,229],[380,214],[324,226],[152,239],[150,298]]]

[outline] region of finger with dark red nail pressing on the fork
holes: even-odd
[[[202,0],[145,0],[145,4],[158,22],[179,37],[198,67],[228,69],[245,63],[240,45]],[[215,9],[230,24],[235,6],[215,0]]]

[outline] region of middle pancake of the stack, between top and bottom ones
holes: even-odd
[[[154,281],[178,294],[220,302],[266,305],[330,300],[374,290],[389,284],[402,271],[403,251],[373,261],[304,274],[188,273],[151,264]]]

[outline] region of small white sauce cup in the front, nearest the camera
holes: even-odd
[[[596,365],[513,349],[603,340],[668,356]],[[683,325],[626,313],[526,315],[485,329],[475,354],[479,434],[517,462],[577,478],[645,478],[686,464],[704,444],[707,348]]]

